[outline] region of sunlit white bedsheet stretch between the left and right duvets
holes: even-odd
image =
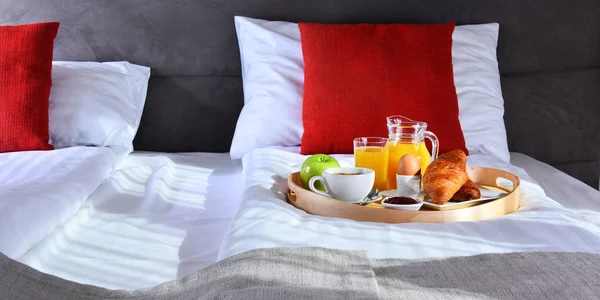
[[[216,262],[241,175],[228,154],[133,153],[20,261],[109,289],[178,279]]]

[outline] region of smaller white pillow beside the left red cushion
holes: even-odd
[[[133,149],[149,78],[128,62],[53,62],[50,143]]]

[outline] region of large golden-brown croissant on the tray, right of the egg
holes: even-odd
[[[452,150],[440,155],[423,174],[423,189],[431,202],[444,204],[469,180],[467,155],[462,150]]]

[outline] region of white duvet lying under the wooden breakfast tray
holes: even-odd
[[[334,157],[342,166],[353,165],[352,156]],[[548,198],[523,170],[490,156],[471,155],[468,164],[520,176],[521,208],[495,219],[445,224],[361,223],[298,210],[286,203],[285,194],[288,175],[304,159],[296,148],[261,148],[244,156],[241,207],[221,245],[220,259],[257,248],[302,246],[366,250],[373,258],[522,251],[600,253],[600,212],[593,209],[600,199],[587,199],[587,210],[566,208]],[[560,199],[565,201],[569,199]]]

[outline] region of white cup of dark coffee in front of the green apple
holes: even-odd
[[[315,188],[321,181],[327,192]],[[362,201],[373,188],[375,171],[368,168],[331,168],[323,171],[323,176],[314,176],[308,181],[310,190],[326,197],[355,203]]]

